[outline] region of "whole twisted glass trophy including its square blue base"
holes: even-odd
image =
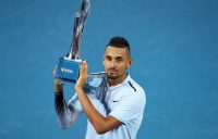
[[[71,47],[65,56],[58,60],[56,79],[75,83],[78,78],[81,60],[81,38],[85,21],[90,11],[90,1],[82,0],[80,11],[74,17],[73,37]]]

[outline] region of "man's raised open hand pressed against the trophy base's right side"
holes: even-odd
[[[80,68],[80,77],[78,79],[76,80],[76,84],[75,84],[75,90],[82,90],[83,87],[85,86],[86,84],[86,80],[87,80],[87,68],[88,68],[88,64],[86,61],[83,61],[81,63],[81,68]]]

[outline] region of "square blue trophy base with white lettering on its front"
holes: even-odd
[[[60,58],[56,65],[55,78],[61,81],[76,83],[82,60]]]

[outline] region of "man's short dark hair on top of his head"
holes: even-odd
[[[120,37],[120,36],[112,37],[110,41],[108,42],[108,45],[106,46],[106,48],[108,46],[116,47],[116,48],[126,48],[130,51],[130,43],[128,42],[125,38]]]

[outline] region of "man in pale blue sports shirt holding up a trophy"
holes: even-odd
[[[62,128],[69,128],[85,112],[86,139],[135,139],[146,98],[143,88],[126,73],[132,65],[128,40],[111,38],[102,63],[105,73],[87,74],[87,62],[82,62],[76,93],[68,104],[63,99],[63,84],[55,79],[58,121]]]

